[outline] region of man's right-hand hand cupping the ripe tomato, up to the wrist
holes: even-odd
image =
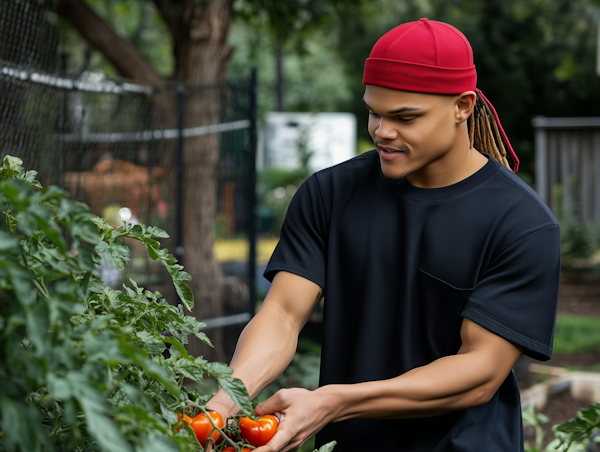
[[[277,433],[265,446],[256,452],[287,452],[298,449],[306,440],[333,420],[327,407],[327,397],[319,390],[282,389],[259,404],[254,410],[257,416],[281,413]]]

